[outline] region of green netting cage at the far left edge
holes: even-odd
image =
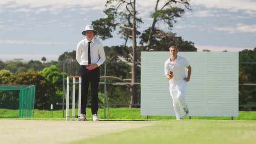
[[[34,117],[35,85],[0,85],[0,90],[18,90],[19,93],[19,118]]]

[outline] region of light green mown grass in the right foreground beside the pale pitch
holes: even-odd
[[[256,121],[170,120],[71,144],[256,144]]]

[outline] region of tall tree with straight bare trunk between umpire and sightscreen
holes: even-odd
[[[137,25],[136,22],[142,22],[137,18],[136,0],[107,0],[107,10],[104,13],[107,18],[101,18],[92,22],[95,29],[99,32],[99,37],[102,39],[112,37],[112,29],[118,26],[121,30],[122,38],[125,39],[125,45],[129,38],[132,39],[131,62],[137,62]],[[104,25],[105,24],[105,25]],[[131,34],[131,35],[130,35]],[[121,56],[118,56],[121,61],[126,61]],[[138,104],[136,85],[136,63],[128,63],[131,66],[131,104]]]

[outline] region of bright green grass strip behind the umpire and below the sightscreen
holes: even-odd
[[[130,119],[130,120],[146,120],[147,116],[141,115],[140,108],[110,108],[110,119]],[[75,109],[75,115],[77,115]],[[87,117],[91,118],[91,109],[86,108]],[[66,110],[64,111],[66,117]],[[69,109],[69,117],[72,115],[72,109]],[[99,118],[104,118],[104,109],[99,108]],[[18,118],[19,110],[0,109],[0,118]],[[34,111],[34,118],[52,118],[52,111]],[[53,111],[53,120],[62,118],[62,110]],[[108,111],[106,109],[106,118],[108,119]],[[175,119],[174,116],[150,116],[152,120],[168,120]],[[189,119],[189,117],[184,117]],[[192,119],[212,119],[212,120],[230,120],[230,117],[202,117],[192,116]],[[234,117],[234,120],[256,120],[256,111],[239,111],[239,116]]]

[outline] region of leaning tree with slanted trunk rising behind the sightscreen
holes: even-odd
[[[159,31],[156,29],[155,24],[158,22],[164,22],[167,24],[169,29],[173,27],[173,22],[176,23],[175,18],[181,17],[185,10],[183,8],[179,7],[174,7],[174,4],[181,4],[183,5],[186,9],[191,10],[189,0],[167,0],[164,2],[164,5],[160,8],[159,2],[161,0],[156,1],[156,5],[154,8],[154,13],[151,14],[151,18],[153,18],[153,22],[151,27],[149,28],[149,34],[148,34],[148,42],[146,44],[146,50],[150,50],[152,47],[152,39],[154,37],[154,34],[158,34],[157,32]],[[163,32],[160,30],[159,32]],[[164,34],[164,33],[163,33]]]

